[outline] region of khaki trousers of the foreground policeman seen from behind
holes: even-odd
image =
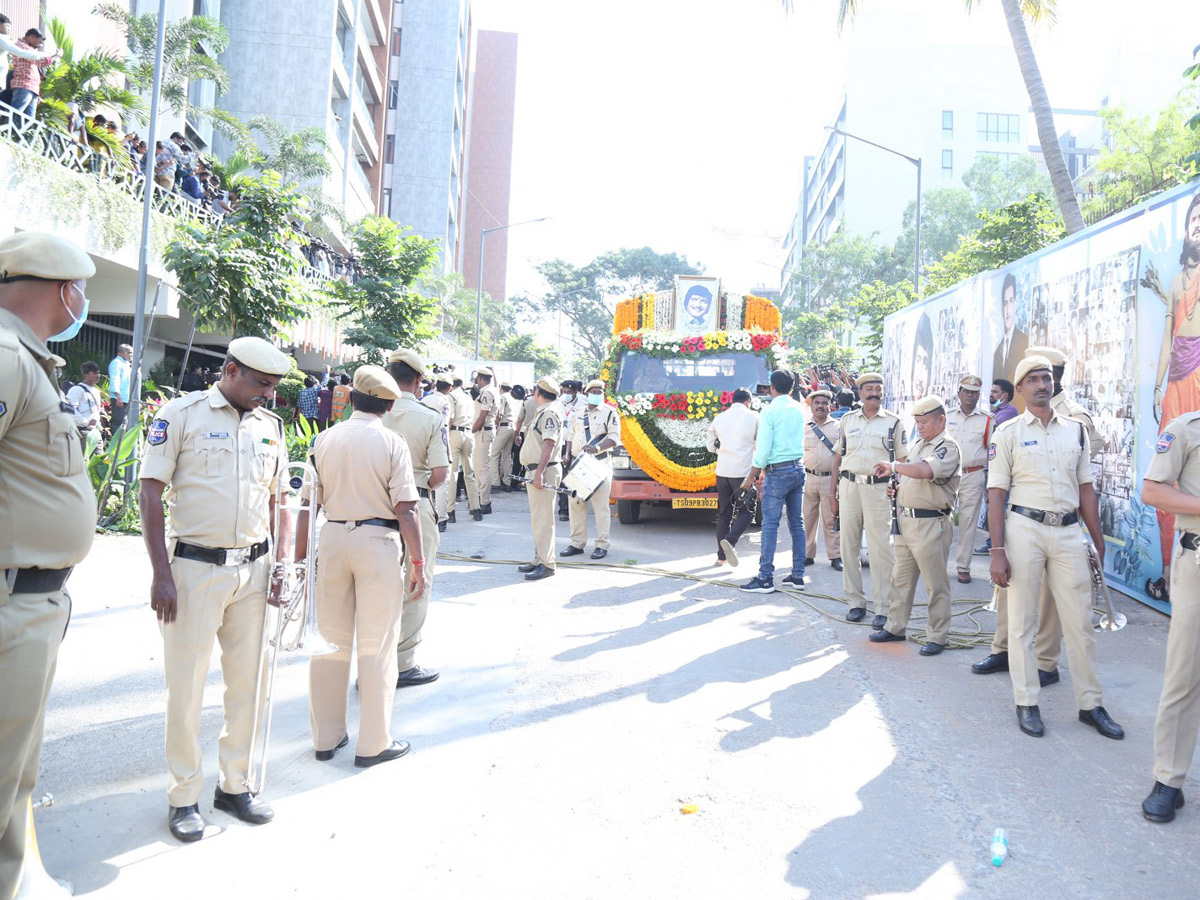
[[[350,656],[359,662],[359,739],[355,756],[391,745],[396,697],[396,644],[404,589],[400,532],[383,526],[335,524],[320,529],[317,624],[335,653],[308,665],[308,721],[316,750],[332,750],[344,734]],[[358,648],[354,648],[355,636]]]

